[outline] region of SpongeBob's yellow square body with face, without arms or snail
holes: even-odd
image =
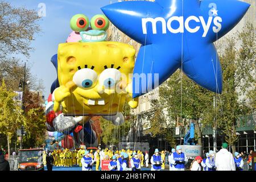
[[[118,94],[133,73],[135,49],[117,42],[63,43],[58,49],[58,79],[67,115],[109,115],[122,111],[129,94]],[[71,87],[70,85],[72,83]]]

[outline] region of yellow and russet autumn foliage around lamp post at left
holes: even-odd
[[[26,92],[22,110],[22,102],[14,100],[16,93],[7,88],[5,81],[0,86],[0,134],[7,138],[8,153],[10,147],[14,146],[17,140],[16,131],[24,126],[26,135],[23,137],[24,148],[38,147],[45,140],[45,116],[44,109],[40,106],[40,97],[37,94]],[[11,143],[13,141],[14,143]],[[3,141],[1,141],[3,142]],[[18,144],[18,143],[17,143]]]

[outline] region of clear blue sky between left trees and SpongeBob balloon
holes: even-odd
[[[50,59],[57,53],[58,44],[64,43],[71,33],[69,20],[75,14],[85,14],[92,18],[96,14],[102,14],[101,7],[109,5],[109,0],[13,0],[8,1],[16,7],[26,7],[39,11],[39,3],[46,5],[46,16],[40,20],[42,32],[36,35],[32,42],[34,51],[28,59],[33,75],[44,81],[44,95],[46,98],[50,93],[52,82],[56,79],[56,71]],[[112,3],[117,0],[112,0]],[[24,56],[18,55],[21,60]]]

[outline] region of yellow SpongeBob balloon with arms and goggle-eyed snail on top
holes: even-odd
[[[89,27],[90,25],[90,27]],[[65,115],[115,115],[125,101],[132,108],[131,75],[135,49],[128,44],[105,42],[109,20],[82,14],[71,19],[73,32],[57,52],[57,87],[53,92],[54,111]],[[56,84],[56,83],[55,83]]]

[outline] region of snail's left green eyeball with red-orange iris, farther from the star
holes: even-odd
[[[74,15],[70,20],[70,27],[75,32],[85,31],[89,27],[89,19],[83,14]]]

